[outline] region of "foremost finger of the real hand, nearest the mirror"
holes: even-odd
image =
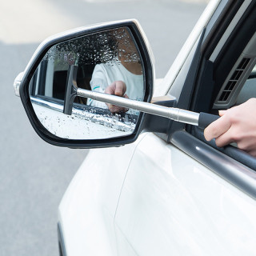
[[[226,133],[226,131],[230,129],[230,126],[230,119],[226,118],[226,116],[223,115],[215,122],[212,122],[210,126],[206,127],[206,129],[204,130],[206,140],[210,141],[213,138],[218,138],[220,135]]]

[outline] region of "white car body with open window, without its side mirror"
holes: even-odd
[[[211,1],[153,96],[212,114],[254,97],[255,13],[254,1]],[[148,120],[160,124],[86,156],[59,206],[60,254],[254,255],[255,158]]]

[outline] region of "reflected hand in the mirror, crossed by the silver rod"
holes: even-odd
[[[126,93],[126,84],[122,81],[115,81],[110,86],[106,87],[105,90],[106,94],[112,94],[124,98],[128,98]],[[128,109],[126,107],[122,106],[116,106],[112,105],[110,103],[106,103],[111,113],[120,113],[120,112],[126,112]]]

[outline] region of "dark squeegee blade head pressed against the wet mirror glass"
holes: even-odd
[[[77,74],[78,66],[71,65],[69,66],[67,80],[66,80],[66,93],[64,98],[64,114],[72,114],[72,107],[74,103],[74,98],[77,96]]]

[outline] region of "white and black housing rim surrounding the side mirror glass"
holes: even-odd
[[[146,39],[145,34],[142,32],[142,28],[139,26],[136,20],[125,20],[121,22],[106,22],[94,26],[86,26],[78,28],[76,30],[70,30],[62,34],[57,34],[51,38],[46,39],[42,42],[38,49],[35,51],[33,57],[31,58],[29,64],[26,66],[26,70],[19,74],[14,82],[14,87],[16,94],[19,94],[22,100],[22,104],[26,110],[26,114],[30,119],[31,125],[37,134],[44,139],[46,142],[53,144],[55,146],[67,146],[70,148],[95,148],[95,147],[106,147],[106,146],[122,146],[127,143],[134,142],[140,134],[143,122],[145,120],[144,113],[140,113],[136,126],[132,134],[126,134],[120,137],[114,138],[92,138],[92,139],[74,139],[74,138],[61,138],[56,136],[50,130],[47,130],[42,122],[39,120],[38,115],[35,113],[34,107],[30,99],[30,82],[34,76],[35,71],[42,62],[42,59],[46,56],[48,50],[51,47],[56,46],[63,42],[68,42],[69,40],[74,40],[75,38],[80,38],[82,36],[91,35],[95,33],[101,33],[106,30],[115,30],[118,28],[126,27],[134,39],[136,44],[143,68],[143,81],[144,81],[144,102],[150,102],[153,94],[153,83],[154,83],[154,64],[153,64],[153,54],[150,50],[150,45]],[[66,102],[65,107],[66,114],[70,114],[69,102]]]

